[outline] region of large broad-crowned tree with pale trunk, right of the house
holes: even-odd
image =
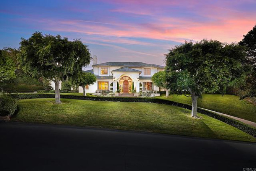
[[[205,39],[198,43],[185,42],[166,54],[167,87],[191,96],[191,116],[196,117],[197,99],[202,98],[202,93],[224,94],[227,86],[244,79],[241,63],[244,58],[244,48],[235,43]]]

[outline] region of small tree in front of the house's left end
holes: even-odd
[[[96,82],[96,76],[90,72],[79,72],[75,78],[71,77],[73,85],[79,85],[83,87],[84,96],[86,96],[85,86],[92,85]]]

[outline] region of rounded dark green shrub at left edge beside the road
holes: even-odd
[[[17,109],[17,100],[8,95],[0,95],[0,116],[11,116]]]

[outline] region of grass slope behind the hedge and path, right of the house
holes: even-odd
[[[176,101],[191,105],[191,97],[184,95],[170,95],[168,98],[161,95],[161,99]],[[221,94],[203,94],[202,99],[198,99],[198,107],[229,114],[234,117],[256,122],[256,106],[246,100],[239,100],[238,96]]]

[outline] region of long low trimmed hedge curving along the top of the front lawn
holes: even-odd
[[[37,99],[37,98],[55,98],[54,94],[10,94],[12,98],[15,99]],[[185,109],[192,109],[191,105],[182,104],[174,101],[164,100],[164,99],[154,99],[154,98],[138,98],[138,97],[92,97],[92,96],[74,96],[74,95],[60,95],[61,99],[76,99],[76,100],[91,100],[91,101],[111,101],[111,102],[146,102],[146,103],[159,103],[159,104],[168,104],[172,106],[178,106]],[[197,108],[198,113],[205,114],[222,122],[225,122],[233,127],[236,127],[247,134],[256,137],[256,129],[245,125],[244,123],[216,114],[214,112],[210,112],[207,110],[203,110]]]

